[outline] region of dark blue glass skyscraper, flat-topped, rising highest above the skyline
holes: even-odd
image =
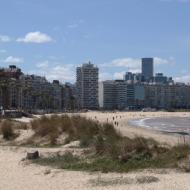
[[[142,58],[142,75],[146,81],[154,76],[154,59]]]

